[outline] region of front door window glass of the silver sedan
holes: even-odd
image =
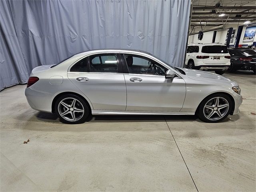
[[[157,62],[141,56],[125,54],[124,58],[128,66],[129,73],[164,76],[166,71],[168,70]]]

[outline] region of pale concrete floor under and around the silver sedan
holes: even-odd
[[[26,85],[0,92],[1,191],[256,191],[256,78],[240,114],[95,116],[79,125],[32,110]],[[23,141],[28,140],[28,144]]]

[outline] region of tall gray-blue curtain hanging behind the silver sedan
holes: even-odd
[[[0,12],[1,90],[90,49],[140,49],[183,66],[190,0],[11,0]]]

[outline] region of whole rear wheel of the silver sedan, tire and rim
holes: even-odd
[[[74,100],[74,106],[72,106]],[[87,102],[82,97],[74,94],[60,96],[55,102],[54,109],[57,116],[60,118],[60,121],[67,124],[84,123],[89,114],[91,114],[91,110]],[[61,115],[64,112],[67,113]]]

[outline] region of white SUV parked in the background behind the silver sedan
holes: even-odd
[[[226,45],[219,43],[189,44],[185,67],[224,74],[230,66],[230,54]]]

